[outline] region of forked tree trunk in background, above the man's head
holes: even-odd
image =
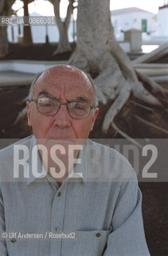
[[[53,53],[53,55],[55,55],[55,54],[61,54],[71,50],[71,45],[68,42],[68,26],[71,21],[71,14],[73,10],[74,0],[69,0],[67,14],[64,22],[61,20],[61,16],[60,16],[61,0],[51,0],[50,2],[53,3],[53,6],[54,6],[54,13],[56,16],[57,27],[60,34],[57,50],[55,50]]]

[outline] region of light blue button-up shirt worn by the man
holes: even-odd
[[[143,230],[142,194],[135,170],[123,155],[88,139],[80,151],[81,163],[74,168],[76,178],[65,178],[59,187],[49,174],[40,173],[39,157],[38,177],[32,174],[34,136],[17,143],[29,148],[29,177],[23,177],[20,170],[19,178],[13,178],[14,145],[0,151],[0,230],[54,234],[76,231],[76,238],[0,238],[1,256],[150,255]],[[97,159],[91,162],[94,150],[99,152],[98,165]],[[103,158],[107,154],[109,162],[105,166],[110,177],[104,170]]]

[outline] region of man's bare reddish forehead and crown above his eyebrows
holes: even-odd
[[[57,88],[66,87],[66,89],[90,89],[93,90],[88,76],[83,71],[73,66],[55,66],[45,70],[37,79],[37,89],[44,85],[56,86]]]

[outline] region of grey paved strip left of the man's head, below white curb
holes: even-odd
[[[31,84],[34,74],[17,71],[0,71],[0,87],[25,86]]]

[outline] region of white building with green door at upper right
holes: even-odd
[[[112,10],[111,22],[116,38],[131,29],[142,30],[143,34],[152,34],[158,29],[157,14],[136,7]]]

